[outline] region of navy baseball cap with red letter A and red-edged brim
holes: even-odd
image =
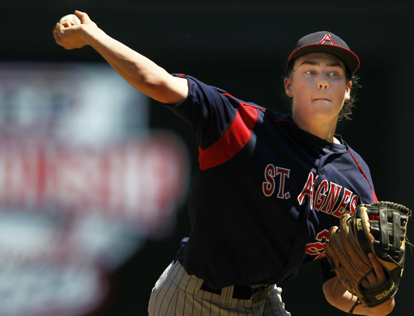
[[[347,43],[331,32],[321,31],[303,36],[296,44],[295,50],[288,58],[287,69],[291,61],[307,53],[331,53],[341,59],[351,72],[359,68],[359,58],[351,52]]]

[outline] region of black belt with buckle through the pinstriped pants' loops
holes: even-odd
[[[251,303],[258,303],[269,296],[271,288],[271,284],[262,285],[261,287],[234,285],[233,299],[245,299]],[[206,292],[221,295],[221,289],[212,289],[205,282],[203,282],[200,289]]]

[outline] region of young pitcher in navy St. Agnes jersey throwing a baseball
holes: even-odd
[[[359,68],[342,39],[322,31],[298,41],[284,79],[289,116],[171,75],[86,13],[75,14],[82,24],[57,23],[56,42],[95,48],[197,138],[191,234],[156,282],[149,315],[290,315],[277,284],[314,260],[330,304],[355,314],[390,313],[411,212],[377,202],[368,166],[335,134],[338,119],[351,113]]]

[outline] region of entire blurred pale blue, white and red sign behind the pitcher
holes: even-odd
[[[106,64],[0,63],[0,315],[88,314],[171,232],[188,153],[148,104]]]

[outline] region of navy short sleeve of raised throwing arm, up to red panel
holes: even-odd
[[[226,131],[236,117],[238,102],[226,91],[209,86],[199,80],[177,75],[188,80],[188,96],[168,109],[188,122],[197,135],[198,145],[205,149]]]

